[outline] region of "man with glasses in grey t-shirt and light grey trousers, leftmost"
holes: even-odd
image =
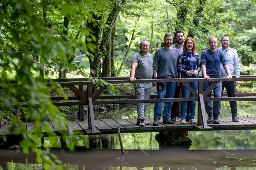
[[[137,79],[152,79],[153,54],[148,53],[150,45],[143,40],[140,43],[140,52],[134,54],[131,64],[130,82],[133,82],[136,99],[149,99],[153,83],[134,83]],[[145,112],[147,103],[137,103],[137,125],[145,126]]]

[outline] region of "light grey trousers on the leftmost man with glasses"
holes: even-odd
[[[149,99],[153,83],[133,83],[136,99]],[[137,103],[138,119],[145,119],[147,103]]]

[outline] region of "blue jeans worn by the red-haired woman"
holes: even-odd
[[[181,75],[182,79],[189,79],[189,78],[199,78],[199,75],[194,76],[188,76],[186,74],[182,74]],[[187,82],[188,85],[190,85],[190,87],[192,87],[196,92],[198,89],[198,82]],[[182,98],[195,98],[195,96],[193,94],[190,93],[189,95],[189,91],[188,89],[181,84],[181,92],[182,92]],[[189,119],[195,119],[195,113],[196,113],[196,101],[190,101],[189,102]],[[181,102],[181,119],[186,119],[187,116],[187,102]]]

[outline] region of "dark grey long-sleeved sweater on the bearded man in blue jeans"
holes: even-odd
[[[153,69],[157,70],[157,78],[172,79],[178,78],[177,60],[179,50],[159,48],[156,50]]]

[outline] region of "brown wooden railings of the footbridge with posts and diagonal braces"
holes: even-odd
[[[101,78],[111,84],[128,84],[129,77],[122,78]],[[203,91],[203,82],[207,81],[204,78],[198,79],[144,79],[137,80],[136,83],[148,83],[148,82],[181,82],[195,98],[172,98],[172,99],[156,99],[156,94],[152,94],[150,99],[135,99],[135,95],[102,95],[107,86],[103,85],[95,93],[95,84],[93,81],[87,81],[87,79],[52,79],[51,81],[62,87],[68,87],[74,92],[75,96],[69,96],[66,102],[64,97],[49,97],[53,104],[56,106],[68,106],[68,105],[78,105],[79,114],[78,120],[84,121],[84,105],[88,106],[88,122],[89,129],[92,133],[95,130],[95,120],[94,120],[94,109],[93,105],[98,104],[122,104],[122,103],[155,103],[155,102],[182,102],[182,101],[197,101],[198,102],[198,125],[202,125],[203,128],[208,128],[204,101],[256,101],[256,93],[237,93],[236,98],[205,98],[209,92],[220,82],[226,81],[225,78],[212,78],[211,81],[214,82],[207,90]],[[232,81],[256,81],[256,75],[241,75],[240,78],[232,78]],[[196,92],[191,88],[186,82],[198,82],[198,91]],[[11,81],[11,84],[15,84],[15,81]],[[51,86],[51,83],[46,83]],[[223,96],[227,96],[223,94]],[[62,102],[56,102],[56,101]],[[26,106],[26,104],[22,104]],[[34,107],[39,107],[34,105]],[[12,108],[17,108],[17,105],[12,105]]]

